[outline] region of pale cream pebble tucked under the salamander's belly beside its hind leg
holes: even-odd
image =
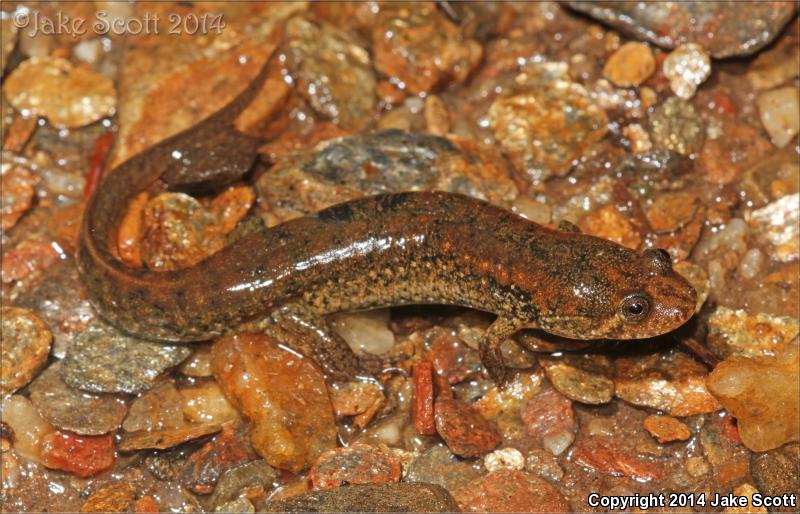
[[[357,352],[383,355],[394,346],[389,330],[389,309],[331,316],[331,328]]]

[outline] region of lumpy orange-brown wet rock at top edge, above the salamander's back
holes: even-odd
[[[463,82],[481,59],[481,45],[430,2],[412,9],[384,5],[372,29],[375,67],[413,94]]]

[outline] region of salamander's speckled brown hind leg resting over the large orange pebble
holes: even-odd
[[[359,358],[327,320],[302,303],[289,303],[272,312],[266,331],[312,359],[333,381],[354,380],[380,371],[378,359]]]

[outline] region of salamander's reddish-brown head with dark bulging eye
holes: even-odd
[[[586,237],[586,236],[583,236]],[[695,310],[697,293],[672,269],[669,254],[641,254],[586,237],[573,246],[583,263],[558,295],[561,315],[540,316],[541,329],[575,339],[643,339],[670,332]],[[550,312],[558,312],[557,305]]]

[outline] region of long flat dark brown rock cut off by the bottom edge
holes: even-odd
[[[268,502],[264,512],[459,512],[445,489],[421,482],[362,484]]]

